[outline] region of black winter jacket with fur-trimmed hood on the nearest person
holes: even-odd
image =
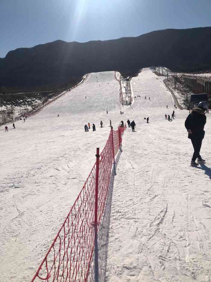
[[[185,120],[185,128],[191,129],[193,133],[188,133],[190,139],[204,138],[204,125],[206,124],[206,115],[200,108],[193,108]]]

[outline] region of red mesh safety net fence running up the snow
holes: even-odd
[[[126,125],[111,128],[109,138],[62,224],[33,281],[87,281],[92,261],[95,229],[104,211],[111,178],[112,162],[121,147]]]

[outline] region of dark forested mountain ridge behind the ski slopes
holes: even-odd
[[[166,29],[138,37],[86,43],[54,41],[19,48],[0,58],[0,86],[62,85],[85,73],[166,66],[177,71],[211,68],[211,27]]]

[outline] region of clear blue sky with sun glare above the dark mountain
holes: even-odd
[[[0,57],[58,39],[86,42],[211,26],[211,0],[0,0]]]

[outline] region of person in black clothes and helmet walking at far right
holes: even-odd
[[[205,163],[205,160],[200,156],[200,150],[202,145],[202,140],[204,138],[204,125],[206,124],[206,112],[207,103],[200,102],[197,108],[193,108],[191,113],[187,116],[185,120],[185,128],[188,132],[188,138],[194,147],[194,154],[191,160],[191,166],[195,167],[199,164]],[[196,163],[196,159],[198,163]]]

